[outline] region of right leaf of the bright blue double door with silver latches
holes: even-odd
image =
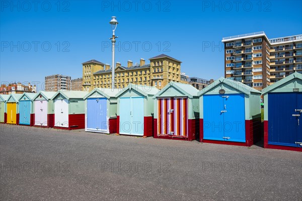
[[[223,99],[224,140],[246,142],[244,94],[228,94]]]

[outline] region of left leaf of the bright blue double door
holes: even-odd
[[[203,96],[203,139],[223,140],[222,105],[221,95]]]

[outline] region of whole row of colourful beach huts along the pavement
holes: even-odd
[[[262,92],[221,77],[201,91],[177,82],[162,90],[130,83],[123,89],[0,95],[0,104],[0,122],[6,124],[241,146],[264,134],[264,148],[302,151],[297,72]]]

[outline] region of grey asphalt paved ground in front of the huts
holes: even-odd
[[[302,198],[299,152],[0,126],[1,200]]]

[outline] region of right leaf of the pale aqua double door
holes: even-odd
[[[143,135],[143,97],[131,97],[131,135]]]

